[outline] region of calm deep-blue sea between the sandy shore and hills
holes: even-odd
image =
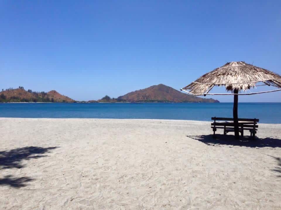
[[[204,120],[232,117],[232,103],[0,103],[0,117]],[[239,118],[281,123],[281,103],[239,103]]]

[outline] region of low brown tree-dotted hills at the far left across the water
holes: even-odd
[[[74,100],[59,94],[55,90],[46,93],[26,91],[23,87],[19,87],[1,91],[0,102],[74,102]]]

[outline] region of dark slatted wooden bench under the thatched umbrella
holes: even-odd
[[[233,118],[217,118],[212,117],[214,122],[211,123],[211,128],[213,128],[213,137],[215,137],[215,132],[217,129],[223,129],[223,134],[226,135],[228,132],[234,132],[234,122]],[[222,122],[223,121],[223,122]],[[257,132],[257,122],[259,119],[246,119],[246,118],[238,118],[238,126],[239,132],[241,133],[241,137],[244,136],[244,130],[249,130],[251,133],[251,137],[254,139]]]

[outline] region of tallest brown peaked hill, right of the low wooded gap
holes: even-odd
[[[167,85],[153,85],[149,88],[129,92],[118,97],[118,101],[129,102],[219,102],[182,93]]]

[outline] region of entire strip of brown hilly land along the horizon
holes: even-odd
[[[85,102],[85,103],[115,103],[115,102],[219,102],[215,99],[204,99],[193,95],[182,93],[167,85],[153,85],[142,90],[129,92],[117,98],[108,95],[99,100],[75,101],[67,96],[59,94],[55,90],[49,92],[34,92],[25,90],[23,87],[17,89],[8,88],[0,92],[0,102]]]

